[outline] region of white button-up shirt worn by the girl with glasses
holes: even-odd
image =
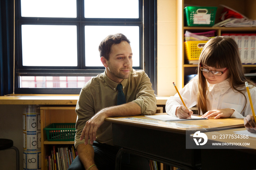
[[[185,85],[183,89],[179,91],[185,105],[188,108],[196,105],[196,96],[198,91],[197,80],[198,76],[195,76],[187,85]],[[238,89],[244,89],[243,93],[247,101],[245,101],[243,94],[234,91],[231,88],[229,78],[218,84],[208,84],[208,87],[209,92],[207,98],[210,101],[207,105],[208,111],[230,108],[235,110],[231,117],[237,118],[244,118],[245,116],[252,114],[245,85]],[[249,90],[252,98],[253,108],[256,109],[256,87],[253,86],[251,88],[250,86]],[[176,108],[180,107],[181,105],[183,105],[182,101],[180,100],[178,93],[176,93],[174,96],[170,96],[170,98],[167,100],[165,110],[169,115],[175,116]],[[200,115],[202,115],[202,113],[200,113]]]

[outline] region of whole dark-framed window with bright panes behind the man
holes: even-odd
[[[150,56],[148,51],[155,44],[156,30],[150,36],[149,26],[156,7],[150,10],[149,3],[18,0],[15,93],[79,94],[91,77],[105,70],[99,59],[99,43],[118,32],[131,40],[133,68],[144,69],[150,76],[155,53]]]

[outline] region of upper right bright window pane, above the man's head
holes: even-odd
[[[85,18],[139,18],[139,0],[84,0]]]

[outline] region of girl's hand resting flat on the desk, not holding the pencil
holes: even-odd
[[[201,116],[202,118],[207,117],[210,118],[215,116],[214,119],[218,119],[219,117],[230,117],[234,113],[233,109],[219,109],[208,111]]]

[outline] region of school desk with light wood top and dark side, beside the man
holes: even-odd
[[[133,120],[137,118],[145,121]],[[197,125],[196,128],[202,131],[244,126],[243,119],[238,118],[168,123],[145,116],[131,116],[129,118],[109,117],[105,121],[112,122],[113,143],[127,149],[125,152],[131,151],[131,153],[182,169],[196,169],[201,166],[201,151],[200,149],[186,149],[186,128],[181,128],[182,126]],[[189,128],[193,129],[191,133],[195,132],[195,127]]]

